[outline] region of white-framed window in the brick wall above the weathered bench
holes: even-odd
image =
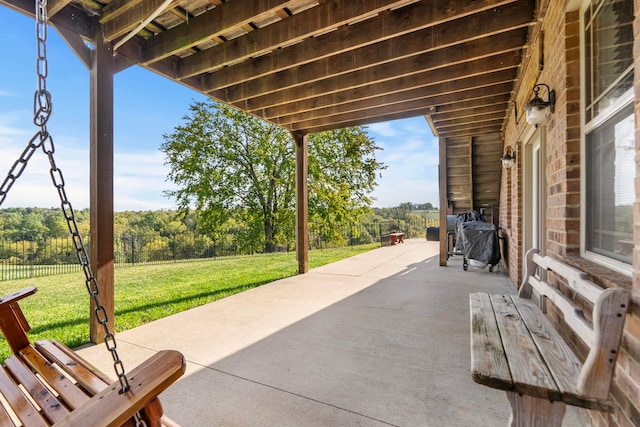
[[[635,200],[633,0],[593,0],[583,8],[583,252],[631,264]]]

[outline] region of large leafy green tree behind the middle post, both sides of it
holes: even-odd
[[[194,208],[202,229],[221,239],[233,224],[265,252],[294,235],[295,154],[284,129],[234,108],[195,102],[185,124],[164,135],[161,149],[178,189],[167,192],[183,213]],[[367,194],[384,165],[362,128],[309,138],[310,217],[327,224],[366,211]],[[233,220],[233,221],[231,221]],[[251,244],[242,242],[242,246]]]

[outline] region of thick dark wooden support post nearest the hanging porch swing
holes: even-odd
[[[113,261],[113,48],[97,31],[91,64],[90,210],[91,270],[98,283],[108,325],[114,327]],[[89,334],[104,341],[104,328],[91,301]]]

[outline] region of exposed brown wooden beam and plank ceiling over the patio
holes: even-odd
[[[0,0],[31,16],[33,3]],[[426,116],[446,141],[450,207],[497,205],[500,135],[535,0],[48,3],[87,65],[84,41],[100,31],[117,71],[145,67],[290,131]]]

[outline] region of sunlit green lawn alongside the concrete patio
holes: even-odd
[[[378,243],[309,252],[315,268],[379,247]],[[171,314],[252,289],[297,272],[295,253],[266,254],[115,270],[116,331],[135,328]],[[0,282],[0,295],[35,286],[20,302],[31,324],[29,337],[56,339],[77,347],[89,340],[89,296],[82,273]],[[106,351],[106,350],[105,350]],[[0,338],[0,357],[11,354]]]

